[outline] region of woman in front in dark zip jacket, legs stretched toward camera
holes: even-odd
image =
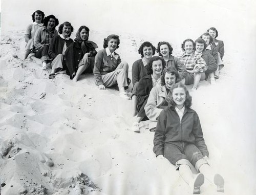
[[[224,192],[224,179],[207,163],[209,152],[200,120],[190,109],[191,96],[185,85],[174,84],[169,94],[169,107],[160,113],[157,122],[153,148],[156,157],[176,165],[194,194],[200,193],[204,176],[217,186],[217,191]],[[195,168],[200,173],[194,178],[191,170]]]

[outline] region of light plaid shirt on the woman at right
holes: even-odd
[[[195,55],[194,52],[191,54],[186,54],[184,52],[179,59],[185,64],[187,70],[194,70],[194,73],[196,74],[204,73],[208,68],[204,59],[199,55]]]

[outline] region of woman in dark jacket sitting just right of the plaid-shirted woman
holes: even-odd
[[[205,78],[209,76],[210,78],[210,83],[215,84],[215,78],[214,78],[214,71],[217,70],[217,64],[214,56],[212,56],[208,51],[205,50],[206,48],[206,43],[204,39],[198,38],[195,40],[195,45],[196,45],[196,51],[195,51],[195,56],[201,57],[204,59],[206,65],[207,65],[207,70],[204,72],[205,73]]]

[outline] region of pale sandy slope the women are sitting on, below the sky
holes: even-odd
[[[100,43],[108,32],[92,33]],[[117,52],[131,68],[144,39],[129,33],[120,38]],[[2,194],[189,194],[174,166],[155,158],[147,124],[141,134],[130,131],[131,101],[115,89],[99,91],[92,75],[77,83],[65,74],[48,79],[50,70],[42,71],[38,59],[21,60],[22,32],[2,36],[0,44]],[[254,111],[251,103],[240,104],[248,93],[240,94],[244,83],[236,77],[248,69],[238,70],[229,53],[225,59],[217,85],[203,81],[192,94],[193,109],[210,163],[225,178],[225,194],[253,194],[255,155],[248,156],[248,148]],[[208,182],[201,191],[218,194]]]

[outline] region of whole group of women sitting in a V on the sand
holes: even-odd
[[[100,90],[118,85],[120,97],[132,99],[134,132],[140,132],[140,122],[151,120],[155,124],[154,152],[157,158],[166,158],[176,165],[181,177],[193,193],[200,193],[204,176],[217,185],[217,191],[224,191],[224,180],[214,174],[207,163],[208,150],[197,113],[190,109],[191,96],[184,84],[193,84],[196,91],[200,80],[209,78],[214,84],[223,68],[223,41],[217,40],[218,31],[209,28],[195,42],[186,39],[179,57],[172,55],[173,48],[161,41],[155,48],[151,42],[143,42],[138,52],[141,59],[132,67],[132,81],[128,77],[129,65],[121,61],[115,52],[119,48],[118,35],[104,38],[102,50],[89,39],[89,28],[81,26],[76,38],[71,23],[59,25],[54,15],[44,17],[42,11],[32,14],[33,23],[25,33],[25,59],[30,53],[41,58],[42,69],[51,62],[50,79],[60,70],[66,70],[70,79],[77,81],[82,73],[93,73]],[[59,33],[59,34],[58,34]],[[155,53],[158,56],[154,56]],[[128,95],[129,84],[133,83],[132,97]],[[199,174],[193,177],[193,169]]]

